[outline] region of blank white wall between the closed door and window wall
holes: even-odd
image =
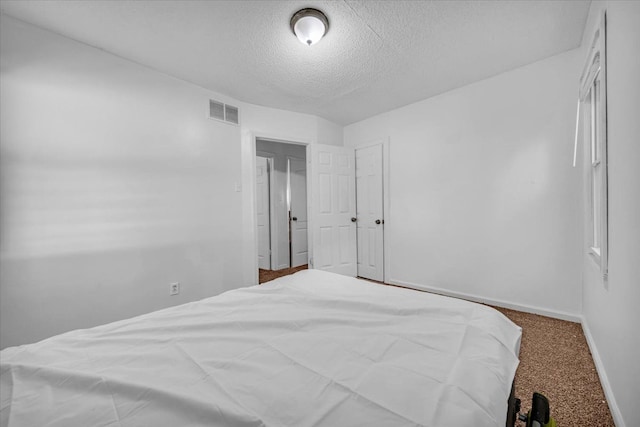
[[[345,128],[389,137],[390,282],[578,319],[570,51]]]

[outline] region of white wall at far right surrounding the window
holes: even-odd
[[[640,402],[640,3],[592,3],[581,61],[605,8],[609,280],[605,288],[584,247],[583,326],[616,425],[630,427]]]

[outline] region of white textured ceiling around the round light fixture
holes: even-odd
[[[349,124],[579,46],[589,1],[5,1],[3,13],[241,101]],[[307,47],[289,19],[321,9]]]

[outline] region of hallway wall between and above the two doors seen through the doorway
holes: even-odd
[[[289,268],[289,209],[287,206],[287,165],[289,157],[306,159],[306,146],[296,144],[283,144],[268,140],[258,140],[256,150],[263,157],[273,158],[274,176],[273,188],[270,189],[270,198],[274,204],[274,217],[271,218],[272,256],[275,260],[275,269]]]

